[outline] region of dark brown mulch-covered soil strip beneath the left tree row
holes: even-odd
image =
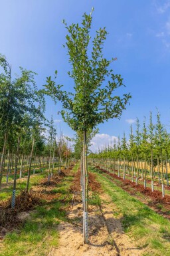
[[[59,194],[52,190],[68,172],[70,168],[61,172],[61,176],[54,174],[49,182],[47,178],[44,178],[39,186],[33,186],[29,192],[23,190],[15,198],[14,209],[11,209],[11,198],[2,201],[0,203],[0,240],[7,232],[19,227],[35,205],[42,205],[42,199],[44,203],[57,199]]]

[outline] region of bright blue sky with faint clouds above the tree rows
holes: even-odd
[[[65,43],[66,29],[62,24],[78,23],[84,12],[94,7],[92,35],[106,27],[109,35],[104,56],[117,57],[113,69],[122,74],[130,92],[131,104],[121,120],[110,120],[99,126],[94,149],[109,142],[112,136],[129,133],[129,123],[149,111],[169,130],[170,125],[170,0],[0,0],[0,53],[12,64],[13,74],[19,66],[38,73],[37,85],[42,88],[46,76],[58,70],[58,80],[66,90],[72,88]],[[57,115],[56,106],[46,98],[46,117],[53,115],[59,130],[68,136],[74,132]],[[135,125],[134,125],[135,126]]]

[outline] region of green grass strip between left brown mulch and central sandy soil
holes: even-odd
[[[76,172],[77,166],[74,167]],[[41,176],[36,176],[31,184],[39,182]],[[64,177],[61,184],[57,184],[54,192],[60,193],[62,199],[72,183],[73,177]],[[48,255],[51,246],[58,245],[57,225],[60,221],[68,221],[66,209],[68,200],[51,201],[46,205],[37,206],[25,223],[16,231],[7,233],[0,245],[0,256]]]

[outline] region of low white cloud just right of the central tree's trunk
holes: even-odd
[[[90,150],[97,151],[98,148],[104,148],[110,144],[114,144],[114,141],[118,142],[118,137],[110,136],[109,134],[96,134],[91,140]]]

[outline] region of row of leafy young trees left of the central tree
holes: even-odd
[[[48,164],[50,180],[56,159],[60,173],[62,161],[65,160],[65,166],[68,164],[71,151],[64,136],[56,142],[54,121],[44,117],[44,94],[37,88],[35,73],[20,68],[21,74],[12,78],[11,65],[3,55],[0,66],[0,188],[3,176],[7,183],[9,175],[13,176],[11,206],[14,207],[18,172],[22,178],[23,170],[27,169],[28,192],[33,164],[39,165],[41,171],[42,165]]]

